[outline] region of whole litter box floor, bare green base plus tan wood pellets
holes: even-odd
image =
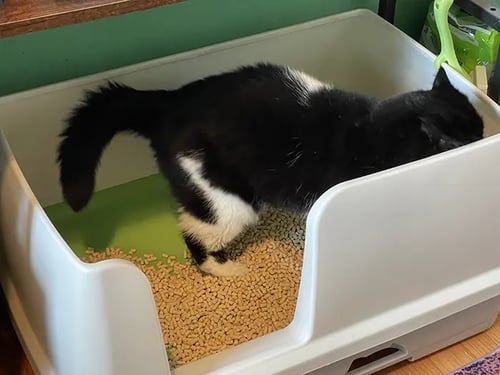
[[[65,204],[46,212],[84,261],[127,259],[144,272],[173,367],[288,326],[298,296],[305,218],[264,211],[227,249],[249,273],[219,278],[193,266],[177,229],[177,208],[166,181],[150,176],[98,192],[80,213]]]

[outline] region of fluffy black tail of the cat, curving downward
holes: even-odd
[[[58,149],[60,182],[75,211],[90,201],[102,152],[120,132],[150,138],[166,113],[168,91],[140,91],[109,83],[89,91],[67,120]]]

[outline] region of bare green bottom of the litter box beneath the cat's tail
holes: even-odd
[[[177,209],[166,180],[153,175],[97,192],[81,212],[73,212],[65,203],[45,207],[45,212],[79,257],[88,248],[112,247],[184,261]]]

